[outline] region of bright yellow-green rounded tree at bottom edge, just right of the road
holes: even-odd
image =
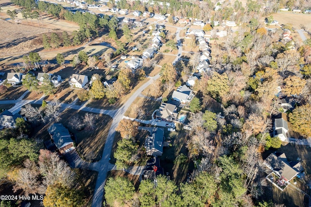
[[[123,206],[132,200],[135,188],[127,178],[110,177],[106,182],[104,190],[105,200],[109,206],[114,206],[116,203]]]

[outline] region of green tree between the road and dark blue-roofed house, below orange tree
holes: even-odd
[[[136,153],[137,147],[132,139],[123,138],[118,141],[118,147],[113,156],[118,160],[116,162],[117,170],[127,168],[131,157]]]

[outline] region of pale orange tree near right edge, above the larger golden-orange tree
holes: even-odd
[[[306,86],[306,80],[301,79],[298,76],[292,75],[284,79],[284,90],[283,92],[288,95],[299,95],[302,89]]]

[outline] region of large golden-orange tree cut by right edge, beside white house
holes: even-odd
[[[296,107],[293,113],[289,114],[293,130],[304,136],[311,136],[311,111],[310,104]]]

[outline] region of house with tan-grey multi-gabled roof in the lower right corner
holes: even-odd
[[[287,183],[304,170],[300,162],[289,162],[285,153],[270,154],[264,164]]]

